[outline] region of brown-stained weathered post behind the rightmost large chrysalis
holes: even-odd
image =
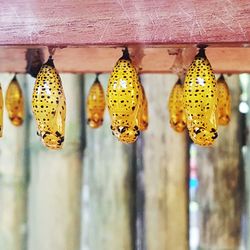
[[[226,77],[232,96],[228,126],[214,147],[197,147],[200,249],[238,249],[241,227],[241,123],[239,77]]]

